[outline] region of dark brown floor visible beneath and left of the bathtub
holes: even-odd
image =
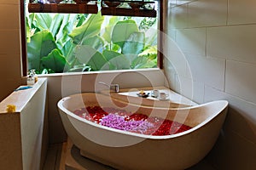
[[[65,166],[65,163],[67,166]],[[68,166],[72,165],[72,166]],[[79,149],[73,144],[63,143],[49,146],[43,170],[114,170],[96,161],[79,155]],[[201,161],[187,170],[215,170],[207,161]]]

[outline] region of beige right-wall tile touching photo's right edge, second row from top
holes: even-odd
[[[256,25],[207,28],[207,55],[256,63]]]

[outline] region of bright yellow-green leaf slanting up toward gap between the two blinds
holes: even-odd
[[[95,37],[101,31],[103,20],[104,16],[101,13],[90,14],[89,19],[82,26],[73,29],[69,36],[76,44],[80,44],[85,38]]]

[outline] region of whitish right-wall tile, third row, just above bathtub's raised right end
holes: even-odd
[[[187,74],[192,74],[194,81],[204,82],[212,88],[224,90],[224,59],[214,59],[191,54],[187,54],[186,56],[190,69]]]

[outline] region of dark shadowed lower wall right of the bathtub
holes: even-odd
[[[256,167],[256,149],[252,150],[255,148],[256,135],[250,122],[241,115],[235,109],[229,108],[218,141],[207,156],[207,161],[213,166],[220,166],[217,169],[253,170]]]

